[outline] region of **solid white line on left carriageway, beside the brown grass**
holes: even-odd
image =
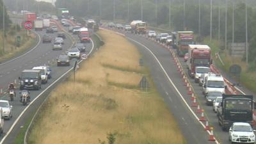
[[[92,42],[92,49],[91,51],[88,53],[88,55],[90,55],[94,49],[94,43],[93,41],[91,40]],[[81,63],[83,60],[79,61],[78,63]],[[9,136],[9,134],[12,132],[14,126],[19,122],[20,118],[22,115],[24,115],[24,113],[26,112],[26,110],[29,108],[29,106],[31,106],[35,100],[37,100],[44,92],[46,92],[49,88],[51,88],[51,86],[53,86],[55,83],[57,83],[63,76],[65,76],[66,74],[68,74],[68,72],[70,72],[71,70],[73,70],[73,68],[70,68],[67,72],[65,72],[63,75],[61,75],[58,79],[56,79],[56,81],[54,81],[52,84],[50,84],[47,88],[45,88],[44,91],[42,91],[41,93],[39,93],[39,95],[37,95],[35,97],[35,99],[33,99],[29,104],[28,106],[23,109],[23,111],[20,113],[20,115],[16,118],[15,122],[13,122],[12,126],[10,127],[9,131],[6,132],[6,134],[4,135],[3,139],[0,141],[0,144],[3,144],[4,140],[7,138],[7,136]],[[30,124],[29,124],[30,125]],[[27,134],[27,132],[26,132]]]

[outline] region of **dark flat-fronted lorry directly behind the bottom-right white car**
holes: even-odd
[[[218,122],[227,131],[234,122],[247,122],[253,125],[253,96],[225,95],[217,108]]]

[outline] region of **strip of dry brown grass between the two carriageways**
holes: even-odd
[[[113,32],[100,35],[106,45],[81,65],[76,83],[70,77],[51,93],[29,143],[97,144],[107,141],[108,132],[117,132],[116,143],[122,144],[185,143],[154,87],[150,92],[125,88],[137,86],[141,74],[147,75],[138,66],[136,47]]]

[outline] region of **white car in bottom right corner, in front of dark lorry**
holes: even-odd
[[[255,143],[255,130],[246,122],[234,122],[229,131],[231,143]]]

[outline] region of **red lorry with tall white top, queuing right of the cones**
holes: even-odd
[[[189,76],[195,77],[196,67],[210,67],[212,63],[211,48],[208,45],[188,45],[188,53]]]

